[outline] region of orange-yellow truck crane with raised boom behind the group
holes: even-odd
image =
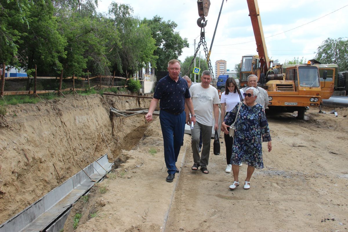
[[[247,85],[248,75],[256,75],[258,86],[268,93],[271,112],[297,111],[297,118],[303,119],[307,107],[319,106],[324,94],[318,66],[310,62],[307,65],[273,65],[264,41],[258,2],[247,0],[247,4],[259,55],[242,57],[240,86]],[[326,79],[326,75],[324,71],[322,78]]]

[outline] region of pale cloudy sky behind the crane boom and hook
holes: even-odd
[[[99,0],[98,10],[108,11],[111,2],[111,0]],[[179,59],[184,61],[187,56],[194,54],[194,40],[196,39],[198,43],[200,35],[200,27],[197,26],[199,18],[197,0],[115,0],[115,2],[130,5],[134,10],[133,15],[140,19],[151,19],[159,15],[164,21],[174,21],[178,25],[175,31],[179,32],[182,38],[187,38],[190,45],[189,48],[183,49]],[[221,0],[211,0],[206,17],[205,39],[208,49],[212,43],[221,3]],[[258,0],[258,5],[268,56],[274,60],[278,59],[281,64],[294,57],[312,59],[317,48],[327,38],[348,37],[347,0],[278,0],[276,2]],[[333,11],[335,12],[332,13]],[[246,0],[227,0],[227,2],[223,0],[210,56],[213,70],[217,60],[227,61],[227,69],[234,70],[235,64],[240,62],[243,55],[257,55],[248,14]],[[314,21],[315,19],[318,20]],[[294,29],[295,27],[298,28]],[[201,56],[204,56],[203,47],[200,51]]]

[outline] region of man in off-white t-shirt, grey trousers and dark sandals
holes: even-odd
[[[218,128],[219,122],[219,93],[217,89],[210,85],[212,81],[211,72],[205,70],[202,72],[201,83],[190,87],[193,108],[196,113],[196,124],[191,129],[191,147],[193,153],[192,170],[200,170],[208,174],[207,169],[210,152],[210,140],[213,127],[213,115],[215,119],[214,130]],[[189,112],[186,112],[186,121],[190,125]],[[199,156],[199,135],[202,132],[203,149]]]

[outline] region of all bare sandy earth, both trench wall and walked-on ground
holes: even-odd
[[[244,190],[243,165],[240,186],[232,191],[233,175],[224,171],[223,136],[221,154],[213,155],[211,146],[209,174],[203,174],[191,170],[191,136],[185,134],[176,163],[180,174],[172,183],[165,181],[159,118],[147,123],[143,115],[112,118],[108,111],[109,106],[126,110],[149,102],[81,96],[11,108],[0,133],[7,139],[0,156],[1,223],[60,184],[51,162],[64,181],[79,170],[74,162],[84,163],[82,154],[97,158],[108,152],[104,133],[117,168],[93,187],[88,200],[76,202],[64,232],[348,231],[347,108],[336,109],[339,117],[319,114],[317,108],[306,112],[304,120],[297,120],[296,113],[267,115],[273,148],[268,153],[263,144],[265,167],[255,170],[250,190]],[[53,112],[60,120],[54,120]],[[50,127],[60,131],[54,140],[48,138]],[[51,156],[43,155],[45,149]],[[72,152],[64,156],[67,149]],[[33,168],[37,170],[30,172]],[[82,217],[74,230],[76,213]]]

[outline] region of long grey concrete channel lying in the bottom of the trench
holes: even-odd
[[[103,155],[97,161],[106,170],[111,170],[112,163],[109,163],[107,154]],[[91,165],[88,165],[84,170],[92,179],[97,182],[101,181],[106,174],[105,170],[95,161],[92,165],[97,169],[99,174]],[[82,170],[79,171],[63,184],[3,223],[0,226],[0,232],[37,232],[46,231],[48,228],[50,228],[50,231],[59,231],[63,227],[59,228],[58,225],[64,226],[71,205],[81,195],[86,194],[94,184],[95,182],[92,182]],[[54,226],[52,227],[52,225]]]

